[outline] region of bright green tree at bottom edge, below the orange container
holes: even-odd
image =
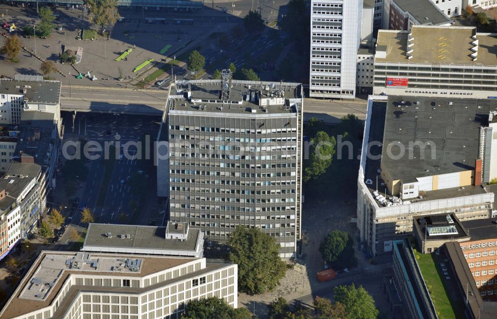
[[[345,306],[347,319],[377,319],[380,313],[373,297],[362,286],[337,286],[333,298]]]

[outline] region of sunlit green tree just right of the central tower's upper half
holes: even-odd
[[[304,181],[316,179],[323,175],[331,165],[335,153],[336,140],[330,137],[327,132],[319,131],[312,139],[309,148],[309,159],[306,160],[304,170]]]

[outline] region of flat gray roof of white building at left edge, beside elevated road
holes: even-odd
[[[17,81],[0,79],[1,94],[23,95],[26,88],[24,101],[32,103],[59,104],[61,83],[59,81]]]

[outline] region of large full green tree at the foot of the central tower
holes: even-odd
[[[238,226],[230,234],[229,259],[238,264],[238,289],[250,295],[272,290],[285,276],[286,266],[279,257],[273,237],[255,228]]]

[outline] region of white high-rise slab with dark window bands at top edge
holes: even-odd
[[[311,1],[311,97],[355,97],[362,5],[362,0]]]

